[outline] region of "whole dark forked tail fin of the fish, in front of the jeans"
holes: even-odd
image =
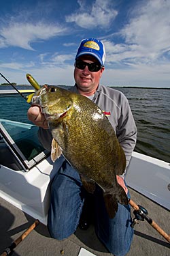
[[[118,212],[118,202],[121,204],[128,204],[128,197],[124,189],[118,184],[116,191],[109,191],[109,193],[103,193],[105,208],[109,218],[114,218],[116,212]]]

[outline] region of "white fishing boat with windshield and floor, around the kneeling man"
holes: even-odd
[[[50,238],[46,227],[50,185],[58,162],[52,162],[50,152],[40,145],[37,129],[33,124],[0,119],[0,253],[38,219],[39,226],[15,248],[15,255],[111,255],[95,235],[94,225],[87,231],[78,228],[63,241]],[[133,152],[126,183],[131,199],[147,208],[148,216],[170,233],[169,163]],[[134,229],[128,256],[169,255],[169,242],[146,221]]]

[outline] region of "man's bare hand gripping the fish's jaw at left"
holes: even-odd
[[[28,119],[33,122],[36,126],[41,126],[41,128],[48,129],[48,122],[41,113],[39,106],[31,106],[27,112]]]

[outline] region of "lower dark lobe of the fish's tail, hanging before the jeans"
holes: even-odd
[[[103,198],[109,218],[114,218],[116,212],[118,212],[118,201],[116,197],[112,194],[103,193]]]

